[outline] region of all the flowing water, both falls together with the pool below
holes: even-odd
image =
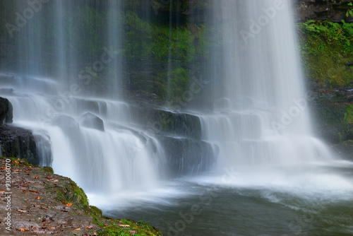
[[[63,50],[80,48],[62,23],[79,4],[54,1],[47,25],[33,18],[19,32],[18,61],[35,66],[21,62],[16,73],[1,74],[1,88],[12,89],[0,95],[13,105],[13,124],[51,141],[42,165],[71,177],[108,216],[143,219],[164,235],[353,235],[353,163],[312,135],[290,1],[213,1],[210,37],[222,39],[207,61],[214,78],[204,102],[213,108],[186,110],[219,155],[208,172],[177,179],[163,171],[160,141],[131,122],[131,105],[112,99],[123,66],[112,57],[124,41],[119,1],[109,1],[109,23],[97,30],[109,46],[89,65],[114,72],[107,98],[85,95],[77,77],[66,78],[90,74],[79,50]],[[34,25],[56,30],[56,76],[38,66],[49,56]]]

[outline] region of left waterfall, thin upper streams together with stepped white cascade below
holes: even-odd
[[[86,9],[87,4],[94,7]],[[52,152],[41,151],[41,164],[93,193],[152,187],[164,168],[163,148],[127,122],[126,102],[112,99],[119,98],[121,78],[119,1],[55,0],[32,6],[20,0],[16,9],[32,15],[21,16],[26,20],[16,36],[18,66],[16,73],[0,75],[1,88],[11,88],[0,95],[13,105],[14,125],[51,143]],[[84,13],[95,15],[96,25]],[[96,45],[85,52],[88,37]],[[45,66],[48,60],[52,67]],[[95,98],[103,90],[98,86],[102,70],[111,72],[105,99]]]

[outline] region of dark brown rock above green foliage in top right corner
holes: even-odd
[[[351,0],[297,0],[297,21],[306,20],[330,20],[333,22],[353,22],[352,16],[346,13],[352,6],[348,6]]]

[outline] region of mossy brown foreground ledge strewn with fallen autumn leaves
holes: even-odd
[[[145,223],[102,216],[99,208],[89,205],[83,189],[68,177],[55,175],[51,167],[1,157],[0,173],[1,235],[162,235]]]

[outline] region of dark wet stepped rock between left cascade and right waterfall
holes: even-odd
[[[200,118],[160,108],[132,106],[130,120],[155,136],[167,158],[169,176],[190,175],[209,170],[217,161],[217,146],[201,140]]]

